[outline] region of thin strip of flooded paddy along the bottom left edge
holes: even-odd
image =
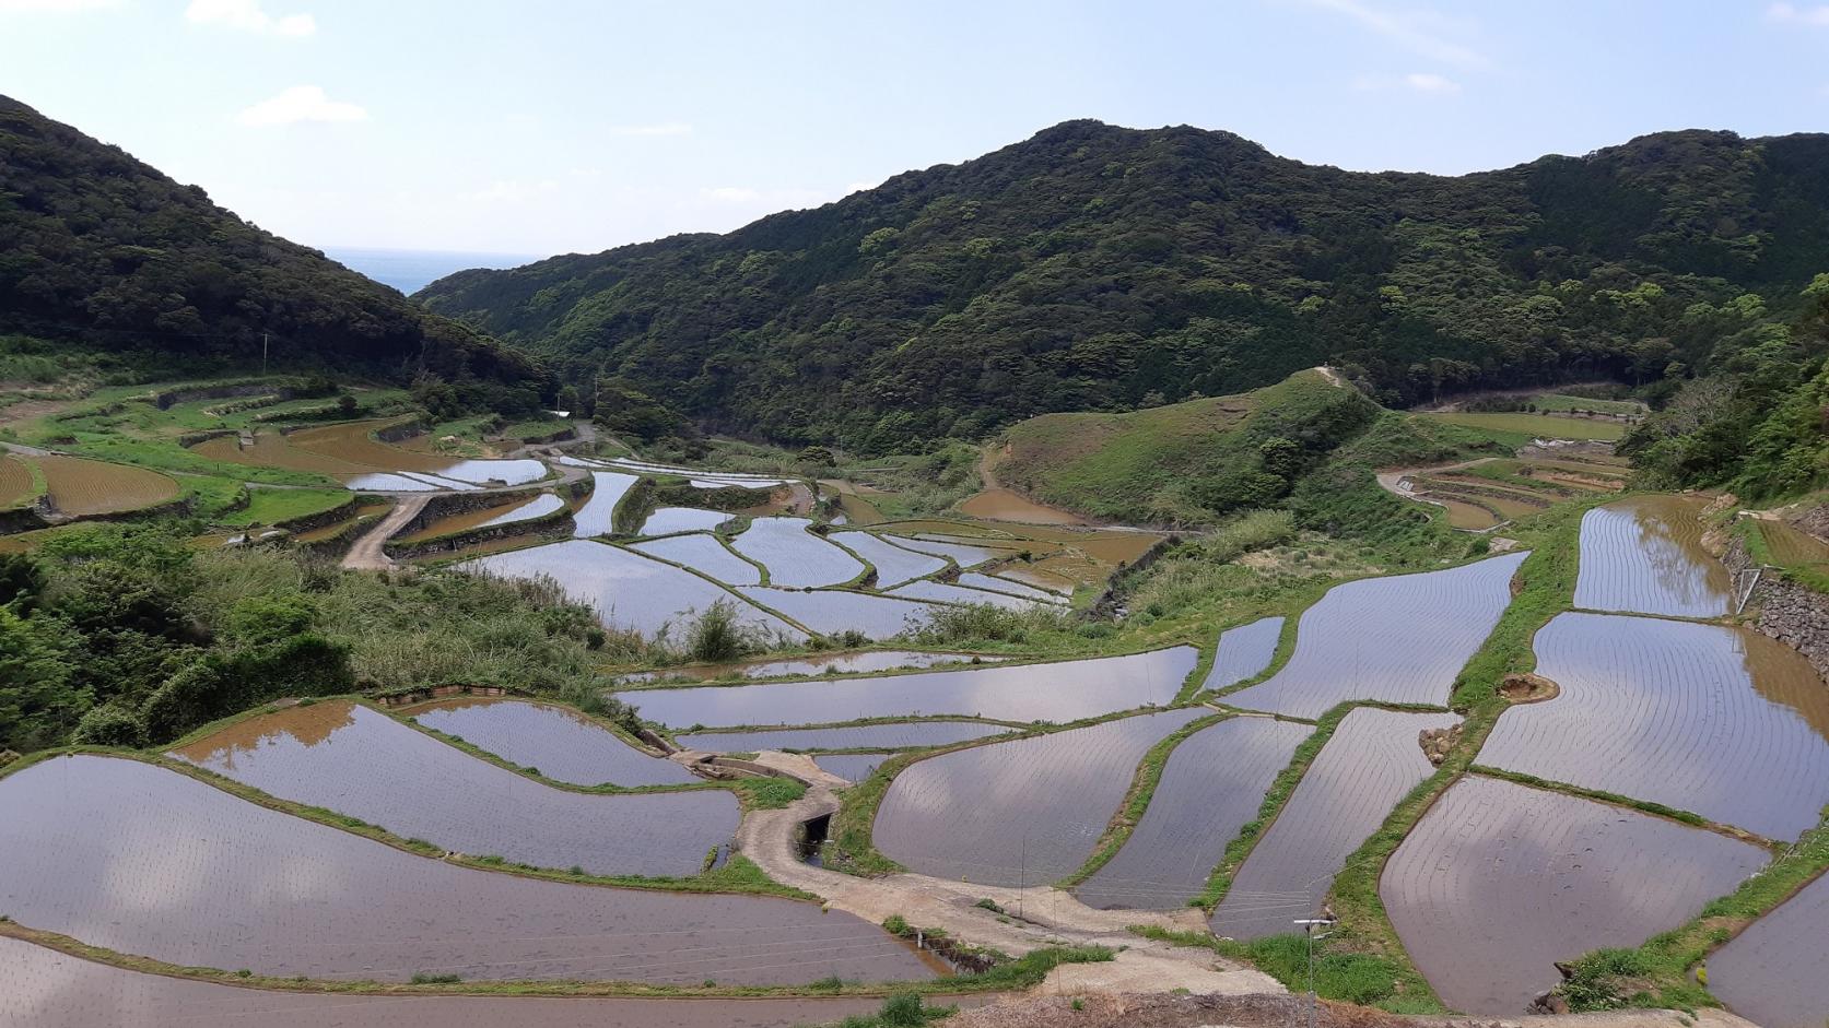
[[[0,1024],[31,1028],[794,1028],[880,1002],[262,991],[110,968],[0,937]]]

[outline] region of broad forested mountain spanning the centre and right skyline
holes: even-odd
[[[466,271],[417,298],[580,388],[902,450],[1324,362],[1386,404],[1683,380],[1749,320],[1794,316],[1824,269],[1829,135],[1674,132],[1441,177],[1074,121],[724,236]]]

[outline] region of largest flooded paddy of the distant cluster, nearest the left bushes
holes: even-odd
[[[799,629],[781,618],[744,604],[730,591],[690,571],[589,540],[567,540],[488,554],[459,567],[503,578],[551,576],[574,602],[596,607],[605,626],[642,635],[655,635],[666,626],[680,626],[693,613],[702,613],[722,600],[737,607],[741,624],[768,633],[786,633],[794,640],[805,638]]]

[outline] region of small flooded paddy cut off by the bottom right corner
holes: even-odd
[[[1708,958],[1708,991],[1763,1028],[1820,1028],[1829,1021],[1825,924],[1829,874],[1716,951]]]

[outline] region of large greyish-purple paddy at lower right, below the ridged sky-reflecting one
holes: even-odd
[[[1516,1015],[1562,980],[1556,960],[1677,927],[1767,856],[1677,821],[1472,776],[1397,847],[1379,896],[1443,1002]]]

